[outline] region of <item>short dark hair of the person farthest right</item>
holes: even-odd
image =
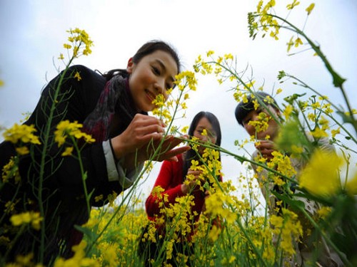
[[[255,92],[251,95],[248,95],[247,97],[248,102],[244,103],[243,101],[241,101],[240,103],[238,103],[236,107],[236,111],[234,112],[234,114],[236,115],[236,120],[240,125],[243,126],[243,120],[246,117],[246,115],[248,115],[248,113],[251,112],[251,110],[254,110],[253,100],[256,100],[257,98],[263,101],[264,103],[266,103],[266,105],[271,105],[276,110],[279,109],[276,100],[272,98],[271,95],[261,91]]]

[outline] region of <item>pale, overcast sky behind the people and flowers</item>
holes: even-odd
[[[276,1],[285,7],[290,1]],[[302,27],[306,7],[311,1],[301,0],[291,13],[291,21]],[[244,0],[1,0],[0,1],[0,125],[11,127],[24,113],[34,110],[41,89],[57,74],[59,53],[64,52],[69,28],[84,29],[94,48],[89,57],[75,61],[104,73],[113,68],[126,68],[129,58],[146,41],[159,39],[176,48],[183,69],[192,70],[200,54],[213,50],[217,55],[231,53],[237,57],[238,70],[248,73],[264,90],[282,88],[276,100],[302,89],[291,83],[280,85],[279,70],[296,75],[328,95],[334,103],[343,100],[333,88],[331,76],[311,51],[288,56],[286,43],[291,33],[275,41],[268,36],[252,40],[248,36],[247,14],[258,1]],[[343,78],[353,108],[357,107],[356,25],[357,1],[320,0],[305,26],[308,36],[320,44],[331,65]],[[279,8],[277,10],[280,10]],[[284,15],[286,12],[284,11]],[[189,125],[201,110],[213,112],[221,122],[222,147],[244,155],[235,140],[247,136],[234,118],[236,102],[228,85],[218,85],[213,77],[198,76],[198,90],[187,102],[186,119],[178,125]],[[1,137],[0,137],[1,140]],[[248,147],[249,148],[249,147]],[[253,150],[253,147],[251,147]],[[241,163],[223,155],[223,179],[238,184]],[[139,190],[149,194],[159,172],[156,164],[149,179]]]

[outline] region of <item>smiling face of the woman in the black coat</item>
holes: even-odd
[[[158,50],[141,58],[139,63],[130,59],[126,70],[130,74],[129,88],[136,108],[148,112],[155,108],[152,102],[157,95],[167,99],[166,90],[174,87],[178,66],[169,53]]]

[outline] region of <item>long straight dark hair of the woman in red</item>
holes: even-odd
[[[221,145],[221,126],[219,125],[219,121],[213,113],[208,111],[201,111],[193,117],[190,127],[188,128],[188,135],[189,137],[193,137],[193,132],[196,130],[198,122],[203,118],[206,117],[209,123],[211,123],[214,132],[216,133],[216,145]],[[183,177],[186,177],[188,169],[191,167],[191,160],[198,159],[197,152],[195,150],[188,150],[185,154],[183,159]],[[219,155],[219,160],[221,160],[221,155]]]

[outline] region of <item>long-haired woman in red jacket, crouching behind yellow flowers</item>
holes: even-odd
[[[211,112],[198,112],[191,122],[188,135],[193,140],[196,140],[198,144],[202,142],[206,143],[206,145],[221,145],[221,127],[217,117]],[[193,145],[193,147],[195,146]],[[204,203],[208,195],[206,189],[209,184],[212,186],[212,183],[214,183],[212,179],[208,179],[207,176],[209,174],[206,175],[206,172],[203,171],[204,169],[202,170],[202,167],[204,168],[205,166],[205,163],[203,163],[203,153],[206,151],[208,150],[206,150],[205,146],[198,145],[196,148],[178,155],[177,162],[166,160],[161,165],[161,170],[154,184],[154,189],[146,199],[146,213],[149,220],[156,222],[157,231],[156,242],[141,240],[139,254],[144,258],[145,266],[151,266],[153,260],[157,261],[156,263],[159,263],[163,258],[166,258],[166,263],[170,263],[172,266],[178,266],[180,265],[178,258],[176,258],[178,253],[188,256],[186,264],[191,265],[189,256],[193,253],[193,247],[189,246],[187,241],[191,241],[194,229],[193,224],[198,221],[201,212],[205,209]],[[221,161],[219,153],[218,161]],[[201,165],[201,167],[197,167],[197,165]],[[213,177],[216,176],[213,175]],[[213,179],[221,181],[221,175],[218,175],[218,177]],[[189,218],[188,222],[191,225],[191,231],[184,230],[186,231],[186,234],[183,232],[178,233],[177,239],[181,240],[181,242],[174,243],[171,256],[168,257],[168,253],[164,252],[164,246],[166,246],[164,244],[166,243],[164,243],[164,238],[161,237],[169,236],[169,229],[172,229],[177,221],[170,218],[170,216],[163,215],[163,212],[165,207],[170,208],[177,203],[179,197],[188,195],[193,197],[192,201],[194,204],[191,206],[191,211],[183,212],[183,214],[187,212],[183,216]],[[161,224],[162,219],[165,221],[164,224]],[[172,222],[172,225],[169,224],[169,221]],[[148,229],[149,226],[146,226],[146,231],[148,231]],[[171,236],[172,233],[173,231],[171,231]],[[168,239],[172,239],[171,236]],[[164,257],[164,255],[166,255],[166,257]]]

